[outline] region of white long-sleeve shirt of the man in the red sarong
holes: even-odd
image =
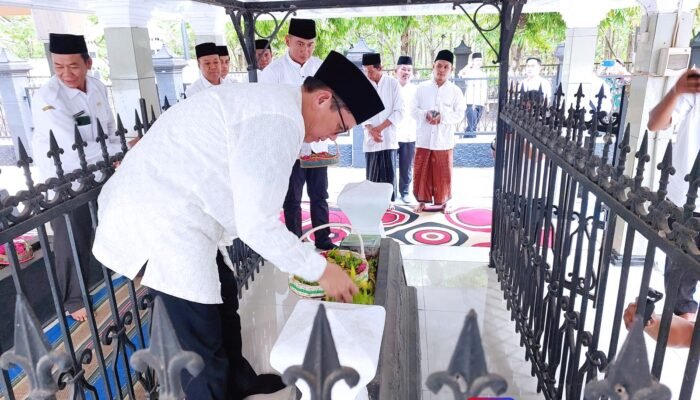
[[[413,117],[416,119],[416,147],[430,150],[450,150],[455,146],[457,125],[464,118],[467,105],[462,90],[450,81],[438,86],[434,79],[416,88]],[[440,112],[440,123],[430,125],[428,111]]]

